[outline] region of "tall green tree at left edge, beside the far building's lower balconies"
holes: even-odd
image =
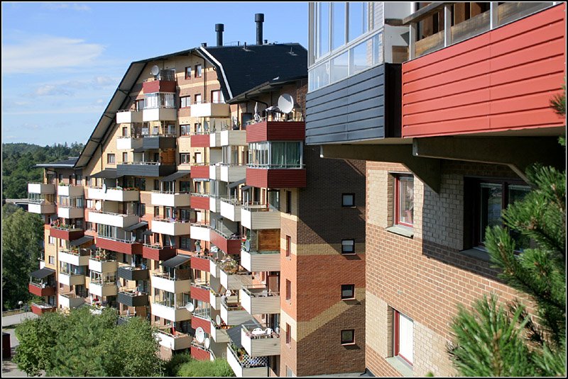
[[[2,307],[13,309],[31,299],[30,273],[38,269],[43,250],[43,222],[21,208],[2,207]]]

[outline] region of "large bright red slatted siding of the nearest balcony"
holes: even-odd
[[[566,4],[403,64],[403,137],[566,125]]]

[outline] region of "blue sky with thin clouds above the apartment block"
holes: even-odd
[[[263,38],[307,47],[307,3],[2,2],[2,142],[86,142],[130,62]]]

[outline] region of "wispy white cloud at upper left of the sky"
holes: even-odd
[[[2,74],[38,74],[94,64],[104,46],[75,38],[43,35],[2,45]]]

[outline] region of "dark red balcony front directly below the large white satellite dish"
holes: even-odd
[[[306,124],[302,121],[263,121],[246,127],[246,142],[303,141]]]

